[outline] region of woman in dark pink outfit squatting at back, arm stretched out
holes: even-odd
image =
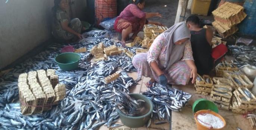
[[[162,17],[159,13],[146,13],[143,10],[145,0],[133,0],[134,4],[129,4],[116,18],[114,28],[117,32],[122,33],[121,43],[125,46],[125,39],[134,33],[131,39],[134,39],[138,32],[143,28],[144,24],[162,25],[159,22],[146,20],[155,16]]]

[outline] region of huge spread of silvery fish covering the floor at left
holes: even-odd
[[[90,50],[94,45],[103,42],[104,46],[113,45],[110,38],[99,37],[104,32],[91,34],[74,48],[86,47]],[[92,37],[93,36],[93,37]],[[96,38],[97,37],[97,38]],[[95,39],[93,39],[95,38]],[[117,46],[121,46],[119,43]],[[82,130],[96,129],[102,125],[109,128],[118,127],[119,119],[116,111],[116,93],[129,93],[129,89],[137,83],[126,72],[134,70],[131,58],[126,55],[109,56],[107,61],[91,63],[90,53],[80,53],[81,60],[77,70],[63,71],[59,69],[54,58],[60,54],[62,44],[53,44],[46,51],[16,65],[12,71],[0,78],[0,129],[6,130]],[[106,84],[104,77],[114,73],[118,67],[125,69],[115,81]],[[59,82],[66,85],[66,98],[50,111],[36,115],[21,115],[18,101],[18,76],[21,73],[55,69]]]

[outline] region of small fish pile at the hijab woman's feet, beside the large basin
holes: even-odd
[[[161,121],[156,124],[166,123],[167,121],[162,120],[169,120],[171,111],[181,111],[192,97],[189,93],[158,83],[153,83],[143,95],[150,98],[154,104],[153,119]]]

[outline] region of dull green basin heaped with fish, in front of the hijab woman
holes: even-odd
[[[148,99],[144,95],[141,95],[138,93],[131,93],[129,95],[132,98],[142,99],[142,100],[146,101],[146,107],[150,108],[149,112],[147,112],[145,115],[142,115],[139,117],[132,117],[129,115],[125,115],[123,112],[121,112],[119,109],[117,109],[117,111],[119,113],[119,117],[125,126],[131,127],[131,128],[138,128],[138,127],[144,126],[147,123],[147,121],[149,120],[150,115],[153,111],[153,103],[152,103],[152,101],[150,101],[150,99]]]

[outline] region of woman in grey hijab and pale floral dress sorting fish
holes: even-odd
[[[132,64],[138,70],[138,78],[151,78],[147,87],[151,87],[154,82],[162,85],[186,85],[190,78],[193,78],[194,83],[197,68],[186,23],[177,23],[160,34],[149,52],[135,55]]]

